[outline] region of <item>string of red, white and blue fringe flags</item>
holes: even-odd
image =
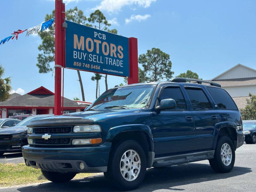
[[[27,31],[26,33],[26,36],[29,36],[31,34],[37,34],[39,31],[44,31],[46,30],[47,28],[50,28],[52,26],[52,23],[54,22],[55,18],[52,18],[48,21],[45,21],[43,23],[41,23],[40,25],[37,25],[35,27],[31,27],[29,29],[25,29],[25,30],[17,30],[17,31],[14,31],[11,36],[8,36],[8,37],[5,37],[4,39],[2,39],[0,41],[0,45],[1,44],[4,44],[5,42],[9,41],[10,39],[18,39],[18,35],[23,33],[24,31]]]

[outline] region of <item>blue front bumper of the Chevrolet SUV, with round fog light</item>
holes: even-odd
[[[106,172],[111,143],[92,147],[38,148],[22,147],[27,166],[52,172]],[[81,170],[79,164],[84,164]]]

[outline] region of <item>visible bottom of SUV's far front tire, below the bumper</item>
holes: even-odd
[[[50,172],[44,171],[42,169],[41,172],[47,180],[52,181],[54,183],[68,182],[76,176],[76,173]]]

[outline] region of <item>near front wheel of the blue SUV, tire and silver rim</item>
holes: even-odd
[[[107,178],[111,178],[122,190],[137,188],[143,181],[147,168],[143,148],[137,141],[127,140],[116,145],[111,151]]]

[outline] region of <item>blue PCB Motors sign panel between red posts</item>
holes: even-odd
[[[66,68],[129,76],[127,37],[66,22]]]

